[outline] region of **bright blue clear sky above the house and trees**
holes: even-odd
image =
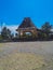
[[[17,26],[30,17],[40,28],[45,22],[53,25],[53,0],[0,0],[0,23]]]

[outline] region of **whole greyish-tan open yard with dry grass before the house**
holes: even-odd
[[[0,43],[0,70],[53,70],[53,41]]]

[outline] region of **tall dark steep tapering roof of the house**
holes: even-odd
[[[30,17],[25,17],[18,28],[30,28],[35,27],[34,23],[31,22]]]

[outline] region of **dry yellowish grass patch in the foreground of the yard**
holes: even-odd
[[[0,70],[37,70],[45,65],[42,56],[26,53],[13,53],[0,58]]]

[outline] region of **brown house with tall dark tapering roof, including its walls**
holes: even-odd
[[[32,38],[38,36],[38,29],[31,22],[30,17],[25,17],[16,31],[18,31],[19,38],[25,38],[24,33],[26,32],[30,32]]]

